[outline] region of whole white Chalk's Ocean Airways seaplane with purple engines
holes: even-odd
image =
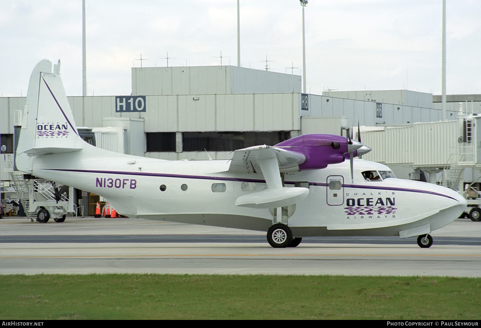
[[[369,150],[360,140],[308,134],[237,150],[231,160],[104,151],[80,138],[60,63],[52,72],[42,60],[30,77],[15,165],[101,195],[132,218],[266,231],[273,247],[298,246],[305,236],[418,236],[419,246],[430,247],[429,233],[456,220],[465,199],[353,160]]]

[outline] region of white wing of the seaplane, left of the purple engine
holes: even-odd
[[[306,161],[304,154],[267,145],[253,146],[234,151],[229,172],[260,173],[259,161],[277,158],[279,172],[298,171]]]

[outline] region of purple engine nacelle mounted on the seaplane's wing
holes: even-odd
[[[362,144],[354,142],[357,148]],[[306,161],[299,165],[300,170],[315,170],[327,167],[329,164],[342,163],[344,154],[350,149],[347,138],[332,134],[304,134],[286,141],[282,141],[274,147],[286,147],[291,152],[300,152],[305,155]],[[289,148],[288,148],[289,147]],[[352,150],[351,150],[352,151]]]

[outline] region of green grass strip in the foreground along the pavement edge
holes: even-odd
[[[3,275],[2,319],[480,319],[481,279]]]

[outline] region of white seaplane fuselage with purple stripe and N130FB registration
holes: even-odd
[[[238,197],[266,189],[266,181],[257,173],[228,172],[229,162],[164,161],[89,146],[37,156],[33,175],[101,195],[129,217],[266,231],[273,223],[269,209],[235,206]],[[305,199],[285,208],[294,235],[400,235],[419,226],[432,231],[454,221],[465,206],[450,189],[397,178],[366,181],[365,170],[390,171],[354,160],[353,179],[347,161],[285,173],[285,187],[309,188]]]

